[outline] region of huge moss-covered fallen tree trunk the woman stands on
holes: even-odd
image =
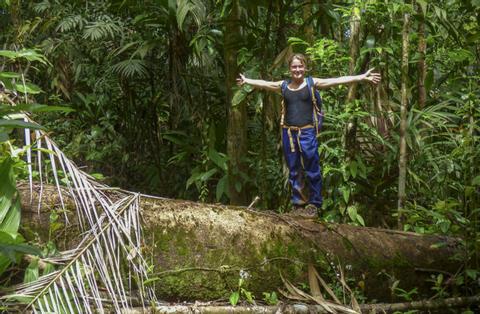
[[[24,234],[49,235],[49,210],[59,208],[52,186],[44,186],[37,212],[34,196],[20,187]],[[67,202],[75,221],[73,202]],[[293,283],[308,282],[307,265],[325,279],[336,277],[340,263],[352,288],[370,299],[391,302],[392,284],[428,292],[431,272],[455,273],[459,242],[442,236],[319,222],[247,208],[143,196],[145,257],[154,266],[159,298],[216,300],[242,288],[258,299],[283,287],[280,273]],[[61,217],[61,216],[60,216]],[[78,242],[75,223],[53,233],[60,248]],[[338,269],[337,269],[338,273]],[[424,288],[423,290],[421,288]]]

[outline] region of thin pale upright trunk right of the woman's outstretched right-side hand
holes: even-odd
[[[410,24],[410,14],[405,12],[403,15],[402,30],[402,100],[400,107],[400,156],[398,159],[398,229],[403,229],[404,207],[405,207],[405,185],[407,178],[407,81],[408,81],[408,31]]]

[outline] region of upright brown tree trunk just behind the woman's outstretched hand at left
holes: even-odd
[[[225,81],[227,87],[228,130],[228,191],[230,203],[245,205],[247,202],[244,179],[247,166],[244,159],[247,156],[247,108],[242,102],[232,106],[235,80],[238,76],[237,51],[240,46],[240,21],[238,0],[232,1],[232,8],[225,19]]]

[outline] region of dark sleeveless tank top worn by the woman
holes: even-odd
[[[302,127],[313,124],[312,100],[307,85],[296,91],[286,88],[284,101],[286,125]]]

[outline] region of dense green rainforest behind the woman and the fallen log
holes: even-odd
[[[376,87],[322,91],[323,218],[461,237],[462,275],[433,280],[445,296],[475,295],[479,21],[478,0],[0,1],[0,80],[23,99],[12,73],[23,74],[27,102],[73,109],[33,117],[108,185],[208,203],[259,196],[257,209],[288,212],[281,97],[235,78],[287,78],[293,52],[315,77],[375,67]],[[0,140],[0,161],[16,158],[6,143],[19,142]]]

